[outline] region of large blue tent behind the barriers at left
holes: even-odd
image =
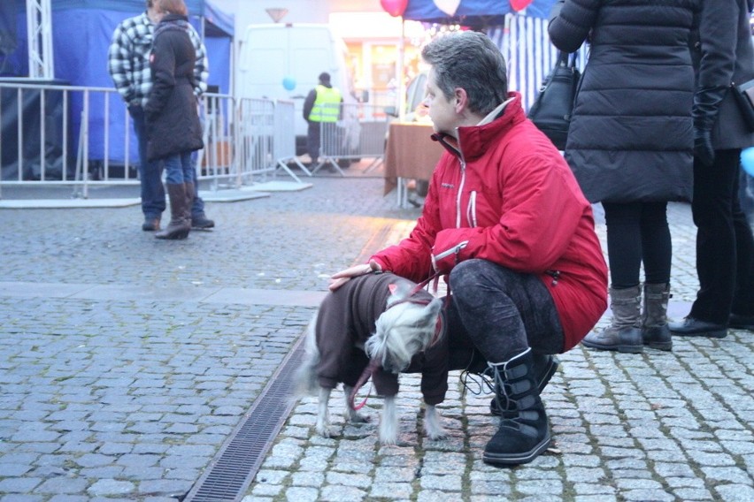
[[[15,47],[10,54],[0,51],[0,77],[27,77],[27,23],[24,0],[0,0],[16,4]],[[191,23],[204,38],[207,48],[210,76],[208,83],[217,86],[221,93],[230,89],[231,48],[234,36],[234,18],[219,11],[210,0],[186,0]],[[54,0],[51,3],[52,45],[56,82],[72,86],[113,87],[107,70],[107,52],[112,32],[123,19],[138,15],[145,9],[144,0]],[[10,9],[0,10],[0,17],[7,17]],[[7,19],[0,27],[8,26]],[[99,103],[97,103],[97,101]],[[97,96],[90,103],[89,159],[103,160],[104,106]],[[74,147],[81,126],[81,95],[72,97],[70,137]],[[125,108],[119,97],[113,95],[110,103],[111,138],[123,138]],[[132,134],[133,136],[133,134]],[[73,150],[75,151],[75,150]],[[135,139],[132,141],[129,158],[135,155]],[[109,160],[122,162],[125,152],[122,141],[112,140]]]

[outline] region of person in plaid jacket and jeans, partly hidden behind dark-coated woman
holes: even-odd
[[[160,218],[165,211],[165,188],[162,185],[161,161],[147,160],[147,134],[145,129],[144,105],[152,87],[150,73],[150,52],[152,35],[159,20],[159,12],[153,0],[146,0],[146,11],[121,22],[112,34],[108,52],[108,70],[115,88],[128,107],[134,119],[134,130],[139,141],[139,179],[142,185],[142,230],[159,230]],[[194,94],[198,99],[207,89],[207,51],[199,34],[193,27],[188,30],[196,49],[194,67]],[[195,172],[196,177],[196,172]],[[196,184],[196,179],[194,179]],[[198,194],[191,205],[191,227],[209,229],[214,221],[204,214],[204,201]]]

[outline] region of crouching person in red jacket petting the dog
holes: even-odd
[[[371,270],[416,282],[450,274],[448,329],[488,361],[502,416],[483,459],[526,463],[550,444],[537,360],[594,327],[607,307],[607,267],[591,206],[520,95],[507,92],[499,49],[463,32],[436,38],[422,57],[433,139],[447,150],[424,210],[408,239],[336,273],[330,288]]]

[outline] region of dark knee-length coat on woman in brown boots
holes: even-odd
[[[196,50],[187,26],[186,17],[167,14],[155,29],[152,88],[144,107],[150,160],[204,148],[194,95]]]

